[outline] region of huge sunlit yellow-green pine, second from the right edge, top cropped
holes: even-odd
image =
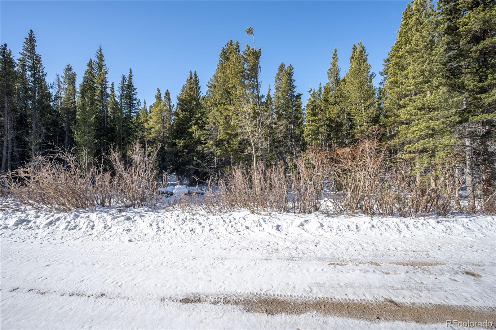
[[[384,109],[395,133],[394,144],[404,158],[422,167],[442,160],[454,144],[457,121],[436,34],[434,8],[415,0],[403,14],[384,70]]]

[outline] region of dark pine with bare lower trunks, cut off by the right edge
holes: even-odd
[[[496,197],[489,200],[496,184],[495,152],[490,148],[496,140],[496,2],[441,0],[437,6],[447,85],[460,109],[468,207],[473,210],[474,149],[480,150],[485,203],[496,203]]]

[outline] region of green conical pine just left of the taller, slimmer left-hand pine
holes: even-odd
[[[76,128],[74,140],[80,155],[91,161],[95,154],[95,116],[98,105],[95,103],[95,71],[93,60],[90,58],[86,64],[83,79],[79,85],[79,98],[77,102]]]

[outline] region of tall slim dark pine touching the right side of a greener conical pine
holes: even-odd
[[[95,116],[96,121],[96,135],[100,152],[107,149],[109,137],[107,136],[108,126],[108,69],[105,64],[105,57],[103,56],[102,46],[100,45],[95,53],[96,60],[94,61],[95,69],[95,104],[97,105],[97,113]]]

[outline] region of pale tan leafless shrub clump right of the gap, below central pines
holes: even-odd
[[[257,164],[235,166],[217,180],[216,208],[315,212],[322,204],[328,168],[327,153],[318,150],[298,156],[290,170],[278,164],[267,170]]]

